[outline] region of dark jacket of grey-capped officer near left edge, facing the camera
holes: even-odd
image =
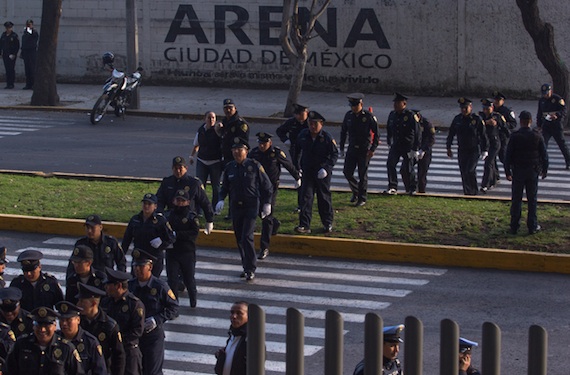
[[[20,275],[12,280],[10,286],[22,291],[20,306],[28,311],[41,306],[53,308],[56,303],[63,301],[63,291],[57,279],[45,272],[40,273],[36,286],[33,286],[26,280],[24,275]]]

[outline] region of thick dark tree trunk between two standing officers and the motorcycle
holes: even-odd
[[[32,105],[56,106],[59,104],[55,62],[61,4],[62,0],[43,0]]]

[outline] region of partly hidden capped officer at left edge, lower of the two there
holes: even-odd
[[[32,333],[32,319],[29,311],[20,307],[22,291],[9,287],[0,289],[0,322],[10,325],[16,337]]]

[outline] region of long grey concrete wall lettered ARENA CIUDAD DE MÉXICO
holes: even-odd
[[[291,68],[277,42],[280,0],[136,1],[147,82],[287,87]],[[570,4],[541,0],[540,10],[567,60]],[[18,31],[29,17],[40,27],[39,0],[1,0],[0,11]],[[107,50],[124,65],[124,20],[125,1],[64,0],[60,80],[101,80],[99,59]],[[306,89],[424,95],[500,89],[524,97],[550,80],[515,0],[333,0],[319,22],[326,35],[309,44]]]

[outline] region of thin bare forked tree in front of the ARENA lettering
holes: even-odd
[[[321,3],[320,5],[318,3]],[[307,66],[309,41],[318,36],[314,32],[317,19],[324,13],[331,0],[312,0],[308,19],[299,16],[299,0],[283,0],[283,19],[279,40],[283,51],[292,65],[292,77],[287,95],[284,115],[293,114],[293,104],[299,99],[303,88],[305,68]]]

